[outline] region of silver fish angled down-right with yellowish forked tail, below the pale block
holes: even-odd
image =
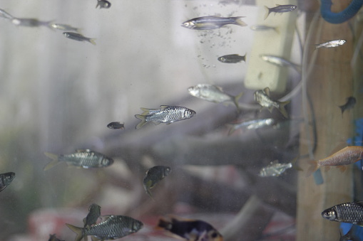
[[[255,101],[261,105],[261,109],[266,107],[270,112],[272,112],[273,107],[276,107],[285,118],[289,117],[285,109],[285,105],[289,104],[290,100],[285,102],[271,100],[270,89],[268,87],[265,87],[264,90],[256,90],[255,93],[253,93],[253,96],[255,97]]]

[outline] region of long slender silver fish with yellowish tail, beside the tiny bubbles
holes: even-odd
[[[200,18],[193,18],[182,23],[181,26],[184,28],[195,29],[195,30],[208,30],[221,28],[227,24],[235,24],[238,26],[247,26],[245,22],[240,20],[244,18],[242,16],[223,18],[218,16],[205,16]]]

